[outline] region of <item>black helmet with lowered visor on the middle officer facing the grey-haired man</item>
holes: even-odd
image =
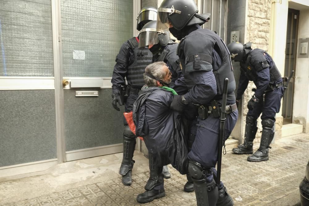
[[[150,21],[138,34],[138,47],[144,49],[145,46],[156,45],[166,46],[170,40],[170,32],[167,30],[157,32],[156,31],[157,21]]]

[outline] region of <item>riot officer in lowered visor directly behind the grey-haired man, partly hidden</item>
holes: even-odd
[[[179,66],[179,58],[176,55],[178,44],[171,40],[168,29],[156,32],[157,21],[150,21],[139,32],[139,48],[148,49],[153,54],[152,62],[165,62],[170,70],[171,83],[163,83],[164,86],[173,86],[176,79],[180,77],[181,70]],[[137,201],[146,203],[158,197],[163,197],[160,191],[164,190],[163,179],[160,180],[160,168],[154,165],[153,157],[149,153],[150,178],[145,186],[145,192],[139,194]],[[193,183],[186,183],[184,191],[191,192],[194,190]]]

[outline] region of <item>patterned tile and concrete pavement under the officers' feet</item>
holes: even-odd
[[[299,205],[299,183],[309,159],[309,134],[281,138],[271,145],[269,161],[253,163],[248,155],[228,151],[222,158],[222,181],[235,206]],[[254,145],[258,148],[258,144]],[[148,160],[135,152],[133,184],[124,186],[118,169],[122,153],[71,161],[50,170],[0,178],[0,205],[141,205],[136,196],[149,177]],[[166,196],[146,205],[196,205],[183,191],[185,175],[169,166]]]

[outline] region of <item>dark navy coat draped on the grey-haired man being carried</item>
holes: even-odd
[[[171,164],[181,174],[187,173],[186,121],[171,110],[173,94],[163,88],[141,91],[133,105],[136,135],[144,138],[148,151],[158,166]]]

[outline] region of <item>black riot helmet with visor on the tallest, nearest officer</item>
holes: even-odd
[[[178,30],[193,24],[205,24],[210,16],[197,12],[194,0],[164,0],[158,8],[157,31],[168,29],[169,22]]]

